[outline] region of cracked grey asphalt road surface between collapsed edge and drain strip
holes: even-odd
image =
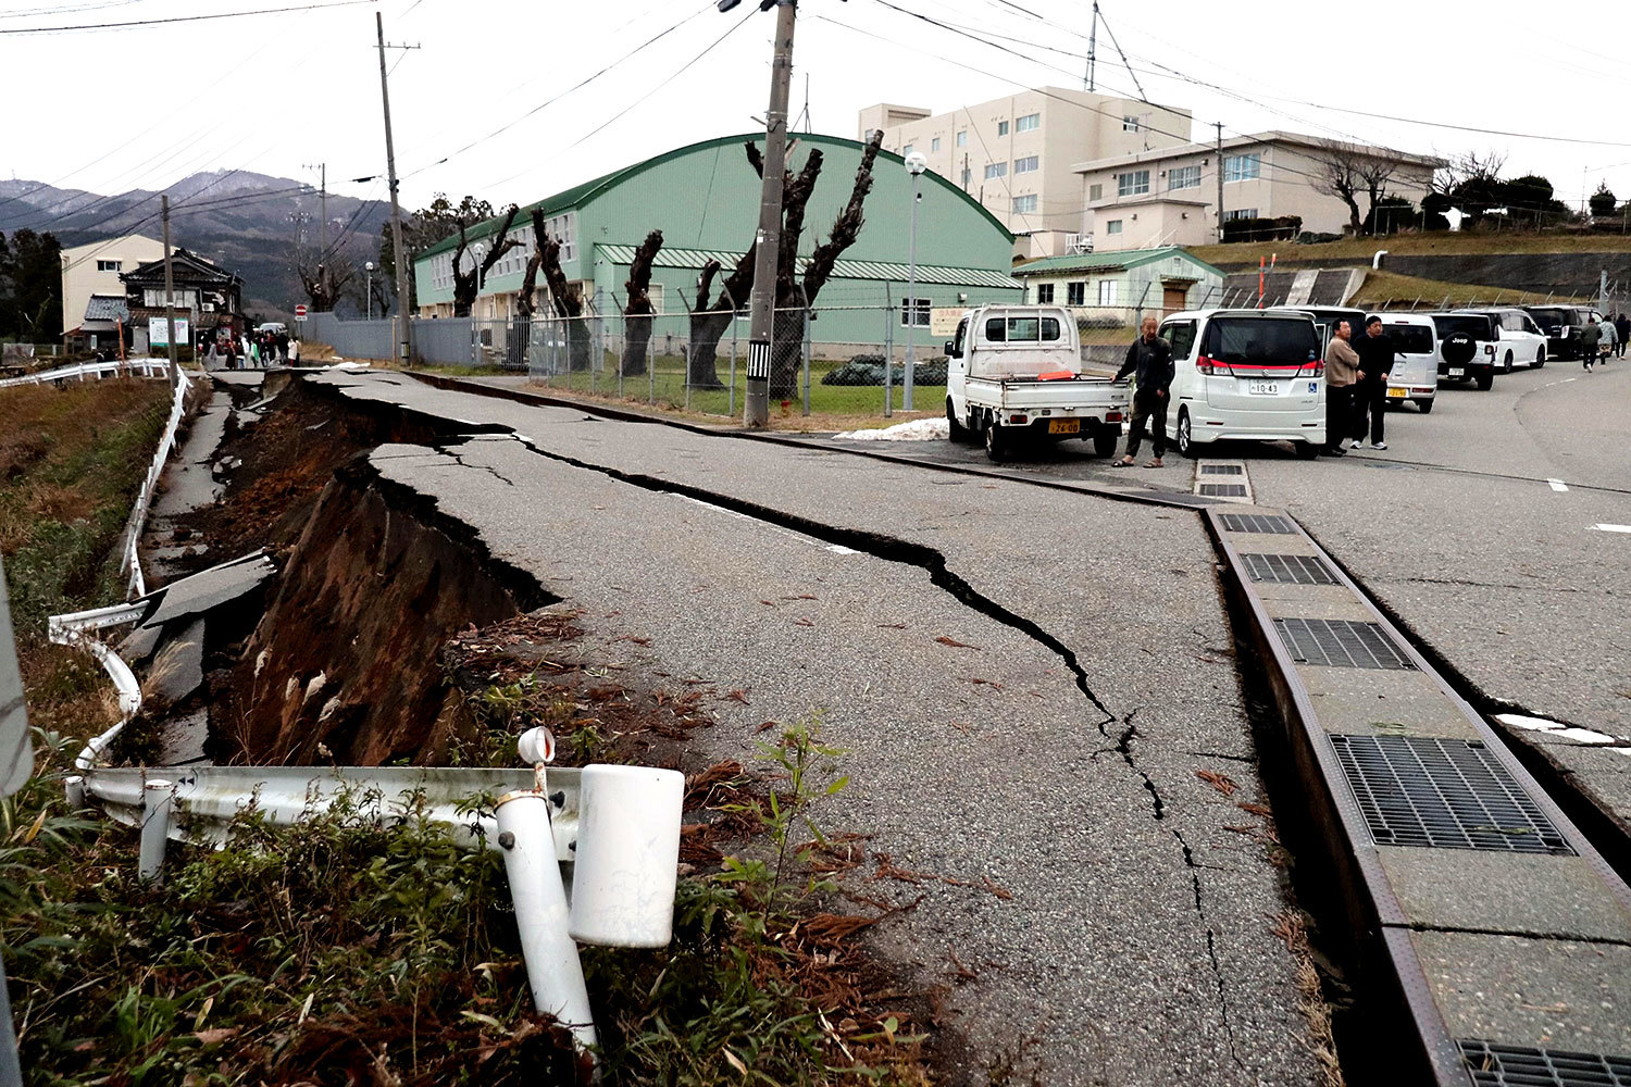
[[[920,900],[873,939],[944,986],[961,1082],[1006,1061],[1047,1084],[1318,1082],[1271,931],[1282,872],[1240,833],[1261,782],[1194,515],[318,381],[514,427],[372,466],[584,608],[625,667],[747,691],[705,758],[820,714],[851,776],[822,818],[915,874],[853,878]]]

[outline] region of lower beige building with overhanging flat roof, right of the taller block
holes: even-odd
[[[1357,160],[1393,165],[1385,191],[1421,204],[1443,160],[1385,147],[1342,143]],[[1161,147],[1085,160],[1075,166],[1083,204],[1078,248],[1091,251],[1158,249],[1218,241],[1218,169],[1223,218],[1297,215],[1302,230],[1339,235],[1349,207],[1318,191],[1328,140],[1293,132],[1259,132],[1217,143]],[[1364,215],[1367,194],[1359,196]]]

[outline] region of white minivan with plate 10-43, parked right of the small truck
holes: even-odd
[[[1166,432],[1179,453],[1218,440],[1290,442],[1305,458],[1324,448],[1324,359],[1306,313],[1174,313],[1161,336],[1173,345]]]

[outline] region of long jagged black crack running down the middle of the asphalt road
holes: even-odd
[[[711,505],[731,510],[732,513],[740,513],[744,517],[765,521],[767,525],[788,528],[802,533],[806,536],[814,536],[816,539],[822,539],[825,543],[851,548],[855,551],[861,551],[886,562],[900,562],[905,566],[915,566],[930,575],[931,585],[949,593],[961,605],[972,608],[974,611],[979,611],[980,614],[995,619],[997,623],[1001,623],[1003,626],[1018,631],[1019,634],[1024,634],[1026,637],[1029,637],[1031,640],[1034,640],[1036,644],[1042,645],[1055,657],[1059,657],[1060,662],[1065,665],[1065,668],[1070,670],[1070,675],[1075,678],[1076,689],[1080,689],[1081,694],[1088,699],[1088,702],[1099,712],[1099,719],[1093,722],[1094,727],[1099,730],[1099,735],[1106,742],[1114,743],[1112,750],[1117,755],[1120,755],[1122,761],[1127,764],[1129,769],[1132,769],[1138,776],[1142,787],[1150,794],[1151,818],[1161,823],[1165,830],[1173,834],[1173,839],[1178,843],[1182,852],[1184,867],[1189,872],[1189,880],[1194,890],[1196,914],[1200,918],[1200,922],[1205,927],[1207,958],[1210,960],[1212,979],[1213,984],[1217,986],[1218,1012],[1223,1019],[1223,1033],[1228,1038],[1230,1058],[1235,1061],[1238,1067],[1246,1069],[1246,1063],[1241,1059],[1240,1051],[1236,1050],[1235,1045],[1235,1023],[1230,1015],[1228,991],[1223,981],[1223,965],[1217,955],[1217,931],[1213,929],[1212,921],[1207,916],[1202,896],[1202,888],[1200,888],[1202,865],[1196,862],[1194,851],[1189,847],[1189,841],[1184,838],[1182,830],[1168,821],[1166,803],[1161,799],[1161,790],[1156,787],[1155,779],[1151,779],[1150,774],[1142,766],[1138,766],[1138,759],[1134,755],[1132,743],[1138,737],[1138,727],[1132,722],[1132,719],[1137,715],[1138,711],[1134,709],[1127,715],[1117,717],[1117,714],[1114,714],[1104,704],[1104,701],[1093,691],[1086,668],[1083,668],[1081,660],[1076,657],[1076,652],[1073,649],[1065,645],[1059,637],[1045,631],[1034,619],[1029,619],[1016,611],[1011,611],[1003,605],[997,603],[995,600],[992,600],[990,596],[980,593],[964,577],[954,574],[948,567],[946,556],[936,548],[900,539],[897,536],[886,536],[882,533],[869,533],[855,528],[838,528],[835,525],[814,521],[811,518],[799,517],[796,513],[788,513],[785,510],[773,510],[758,505],[755,502],[747,502],[732,495],[723,495],[713,491],[705,491],[701,487],[692,487],[688,484],[677,482],[672,479],[661,479],[657,476],[648,476],[643,473],[628,473],[618,468],[608,468],[605,464],[592,464],[576,456],[568,456],[566,453],[555,453],[540,448],[537,442],[527,438],[525,435],[517,433],[514,437],[517,442],[520,442],[525,448],[532,450],[538,456],[558,461],[561,464],[569,464],[572,468],[581,468],[584,471],[599,473],[602,476],[607,476],[608,479],[617,479],[618,482],[626,482],[630,486],[641,487],[644,491],[654,491],[659,494],[677,494],[688,499],[695,499],[698,502],[708,502]],[[1120,722],[1122,730],[1112,740],[1111,725],[1114,722]]]

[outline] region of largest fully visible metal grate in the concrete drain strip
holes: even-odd
[[[1574,852],[1481,740],[1333,735],[1331,746],[1378,846]]]

